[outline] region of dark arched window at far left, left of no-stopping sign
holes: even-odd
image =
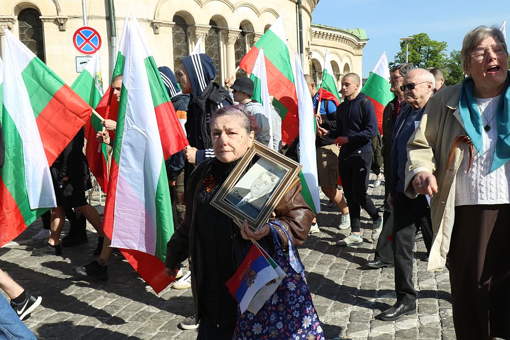
[[[27,8],[19,12],[19,40],[45,63],[46,58],[44,56],[44,41],[40,16],[41,13],[33,8]]]

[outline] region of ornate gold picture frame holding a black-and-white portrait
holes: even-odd
[[[234,220],[248,221],[250,229],[262,227],[302,166],[267,146],[254,142],[228,175],[211,205]]]

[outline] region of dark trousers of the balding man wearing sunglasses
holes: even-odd
[[[398,302],[412,304],[418,297],[413,284],[415,236],[421,226],[427,252],[430,252],[433,236],[430,208],[424,195],[409,198],[395,192],[391,196],[394,214],[391,245],[395,258],[395,292]]]

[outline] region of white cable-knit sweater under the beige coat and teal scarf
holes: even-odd
[[[482,128],[483,153],[479,154],[473,148],[473,163],[468,174],[466,174],[466,170],[469,165],[469,151],[466,147],[464,159],[456,177],[455,205],[510,203],[508,197],[510,162],[489,173],[496,148],[497,128],[495,115],[498,100],[499,96],[476,99],[482,126],[489,124],[491,129],[487,132]]]

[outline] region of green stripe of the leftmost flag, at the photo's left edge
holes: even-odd
[[[14,121],[3,107],[2,129],[4,131],[5,142],[5,164],[0,173],[2,180],[16,201],[19,211],[23,216],[26,225],[30,225],[48,208],[40,208],[36,210],[30,209],[27,188],[25,187],[25,171],[23,167],[23,147],[21,136],[18,133]]]

